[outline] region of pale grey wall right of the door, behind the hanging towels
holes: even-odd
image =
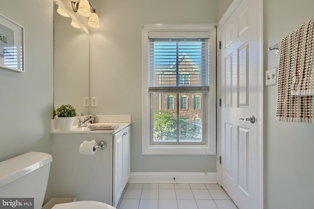
[[[267,51],[314,18],[313,0],[264,0],[264,70],[277,67]],[[278,122],[276,86],[264,89],[264,175],[266,209],[314,208],[314,124]]]

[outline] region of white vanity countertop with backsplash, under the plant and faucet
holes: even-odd
[[[100,115],[98,116],[98,120],[100,123],[106,124],[118,124],[119,128],[116,130],[96,130],[92,131],[87,126],[78,127],[78,118],[84,118],[86,116],[78,116],[77,119],[74,120],[73,129],[69,131],[60,131],[58,120],[51,120],[51,131],[52,134],[114,134],[125,127],[131,125],[131,116],[130,115]]]

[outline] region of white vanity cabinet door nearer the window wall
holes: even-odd
[[[123,187],[129,181],[131,174],[131,132],[130,126],[123,131]]]

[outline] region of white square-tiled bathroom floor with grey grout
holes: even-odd
[[[118,209],[237,209],[217,184],[129,184]]]

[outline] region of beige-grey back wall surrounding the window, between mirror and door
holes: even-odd
[[[142,155],[141,24],[217,23],[217,0],[91,0],[90,96],[96,114],[130,114],[131,172],[216,172],[216,156]]]

